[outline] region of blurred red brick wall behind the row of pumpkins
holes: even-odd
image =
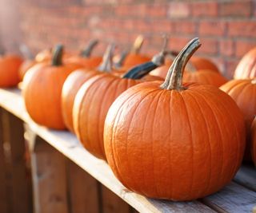
[[[17,8],[21,33],[13,39],[34,51],[58,42],[74,50],[98,37],[103,42],[97,51],[102,53],[109,41],[127,46],[144,34],[142,51],[156,53],[163,32],[170,35],[174,50],[198,36],[202,47],[197,54],[212,58],[232,77],[238,60],[256,46],[255,0],[23,0]]]

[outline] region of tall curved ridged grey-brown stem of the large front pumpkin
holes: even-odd
[[[187,61],[194,52],[201,46],[198,37],[195,37],[182,49],[178,56],[174,59],[173,64],[166,75],[166,80],[160,86],[162,89],[185,89],[182,87],[182,77]]]

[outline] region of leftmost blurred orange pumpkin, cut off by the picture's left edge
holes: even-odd
[[[18,69],[22,65],[22,58],[17,55],[0,57],[0,87],[18,85]]]

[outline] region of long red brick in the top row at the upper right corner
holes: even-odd
[[[223,17],[250,17],[252,13],[251,0],[219,2],[219,15]]]

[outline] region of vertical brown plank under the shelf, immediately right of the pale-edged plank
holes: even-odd
[[[99,212],[98,181],[70,160],[67,160],[66,163],[70,195],[70,212]]]

